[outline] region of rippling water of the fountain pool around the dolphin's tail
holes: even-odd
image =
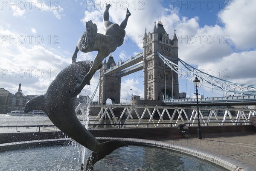
[[[80,171],[81,146],[44,146],[0,153],[0,171]],[[87,150],[86,157],[90,151]],[[86,161],[85,161],[86,162]],[[168,149],[122,147],[94,165],[93,171],[227,171],[206,160]]]

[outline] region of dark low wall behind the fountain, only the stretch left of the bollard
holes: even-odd
[[[121,137],[139,139],[181,138],[177,128],[126,128],[89,130],[95,137]],[[58,132],[0,133],[0,144],[33,141],[41,139],[61,139],[68,136]]]

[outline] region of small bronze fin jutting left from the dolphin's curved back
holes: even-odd
[[[44,111],[44,95],[37,96],[37,97],[29,100],[29,102],[27,102],[27,104],[25,105],[24,112],[28,113],[29,111],[32,111],[32,110],[43,110]],[[44,112],[46,112],[46,111],[44,111]]]

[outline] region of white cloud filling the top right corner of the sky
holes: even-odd
[[[230,2],[228,10],[218,14],[224,23],[225,34],[230,36],[238,49],[256,48],[255,6],[255,0],[234,0]]]

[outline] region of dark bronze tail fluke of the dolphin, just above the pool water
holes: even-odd
[[[118,140],[112,140],[107,142],[102,142],[102,149],[103,151],[99,152],[92,152],[91,155],[87,159],[87,163],[85,166],[85,170],[92,170],[93,166],[96,162],[103,159],[106,155],[111,154],[114,150],[116,150],[119,147],[128,146],[125,142],[118,141]]]

